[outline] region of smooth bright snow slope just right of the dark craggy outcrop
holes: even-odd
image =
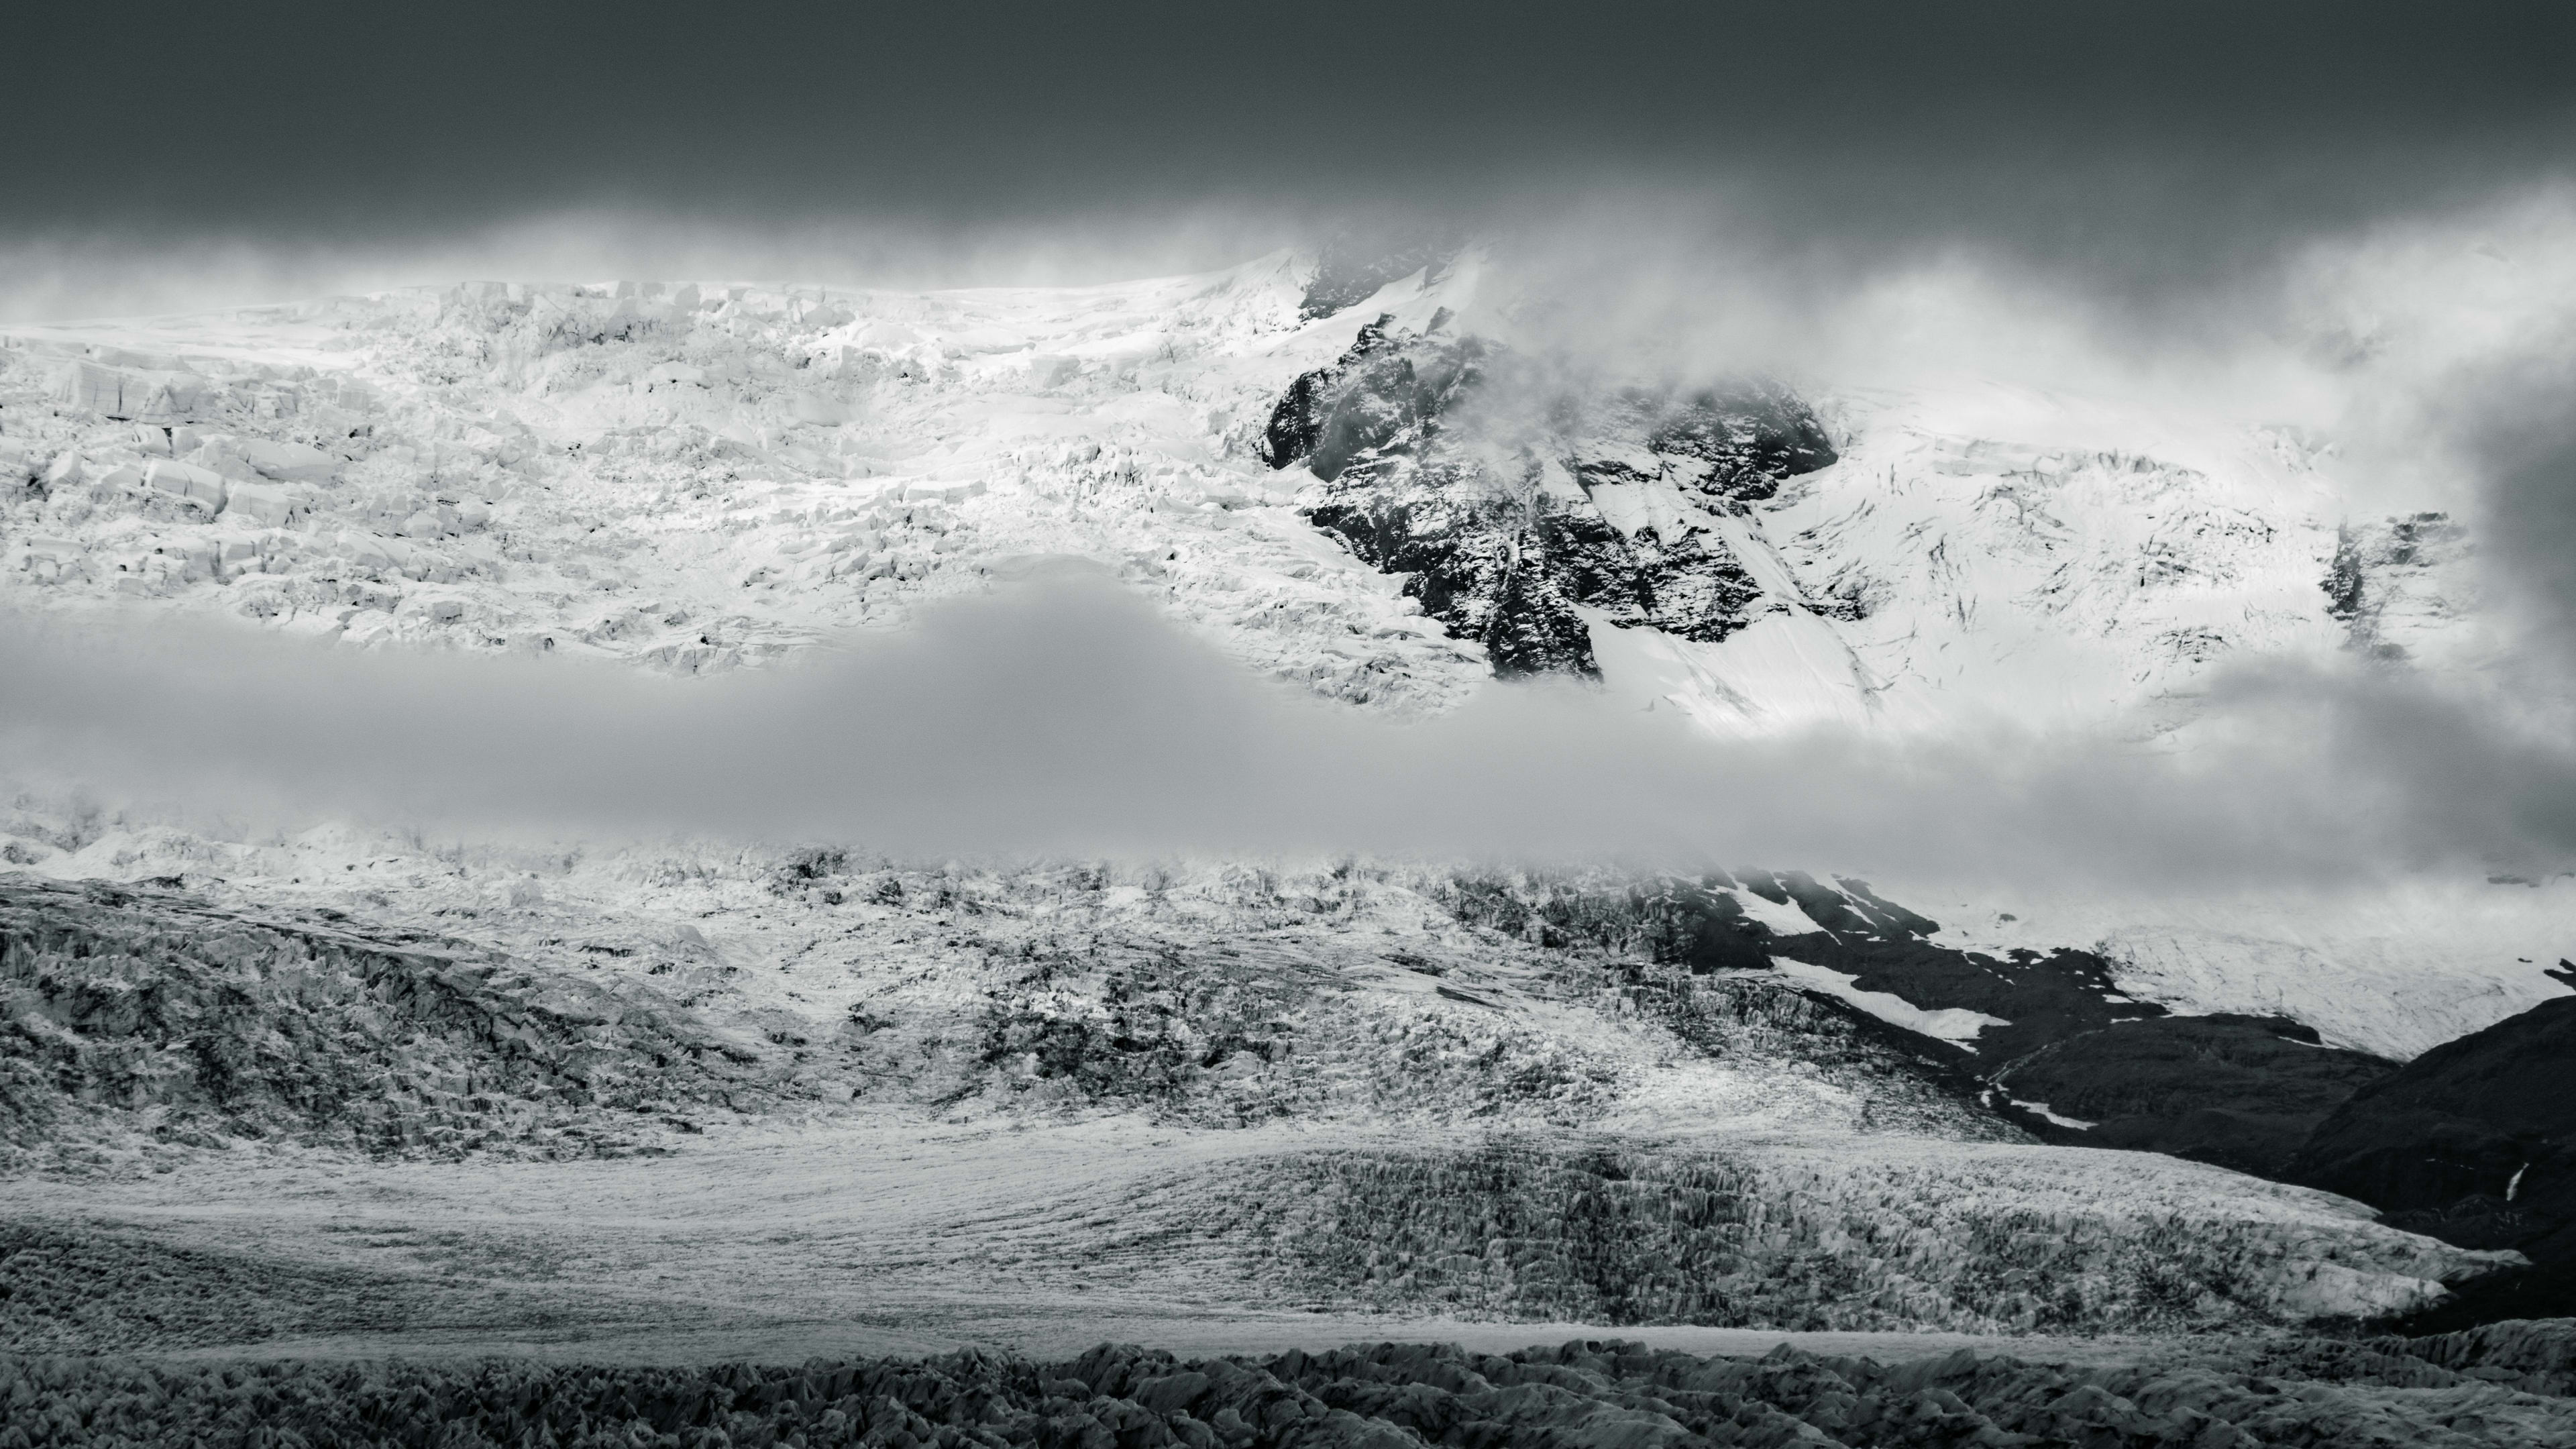
[[[1765,526],[1880,712],[2099,717],[2231,655],[2331,650],[2336,498],[2282,433],[2187,436],[1989,387],[1852,397]]]

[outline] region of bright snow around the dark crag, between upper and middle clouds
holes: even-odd
[[[1484,639],[1352,557],[1347,526],[1316,529],[1347,485],[1265,467],[1262,433],[1381,317],[1414,338],[1484,327],[1476,345],[1510,353],[1515,307],[1481,253],[1324,315],[1311,271],[1273,255],[945,294],[469,284],[18,327],[0,340],[0,467],[21,480],[0,601],[155,598],[353,645],[708,670],[1082,557],[1262,673],[1443,709],[1489,678]],[[1504,449],[1620,570],[1649,559],[1620,588],[1687,596],[1577,601],[1610,688],[1721,732],[2099,719],[2172,709],[2228,657],[2354,637],[2442,655],[2470,614],[2429,583],[2455,531],[2347,518],[2316,441],[2007,387],[1808,392],[1785,415],[1811,402],[1832,436],[1816,456],[1839,462],[1752,490],[1700,498],[1674,467],[1705,462],[1631,459],[1582,428],[1561,459],[1546,438]],[[1443,464],[1448,487],[1489,485],[1463,474],[1494,462],[1497,413],[1450,420],[1466,462]]]

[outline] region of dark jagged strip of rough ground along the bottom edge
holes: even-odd
[[[1376,1343],[1190,1361],[1103,1343],[1059,1364],[963,1348],[925,1361],[706,1369],[23,1359],[0,1377],[0,1403],[59,1403],[62,1413],[23,1415],[23,1444],[46,1449],[103,1439],[222,1449],[270,1441],[2537,1449],[2576,1434],[2576,1403],[2468,1382],[2406,1356],[2378,1356],[2370,1366],[2349,1356],[2331,1377],[2272,1377],[2223,1359],[2074,1369],[1960,1351],[1878,1364],[1788,1346],[1762,1359],[1698,1359],[1623,1341],[1517,1354]]]

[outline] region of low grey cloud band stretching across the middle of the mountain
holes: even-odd
[[[0,632],[0,750],[247,817],[711,833],[896,853],[1829,861],[2020,887],[2553,869],[2576,750],[2362,673],[2221,681],[2190,748],[1991,722],[1713,743],[1582,686],[1388,724],[1244,676],[1108,583],[925,611],[806,668],[348,652],[224,627]]]

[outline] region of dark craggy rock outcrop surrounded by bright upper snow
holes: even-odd
[[[1718,642],[1762,588],[1718,518],[1834,462],[1785,389],[1613,389],[1445,333],[1360,330],[1296,379],[1262,433],[1270,467],[1324,487],[1306,516],[1499,676],[1600,673],[1577,608]]]

